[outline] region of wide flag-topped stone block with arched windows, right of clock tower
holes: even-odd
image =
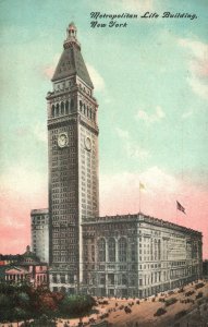
[[[201,277],[201,233],[143,214],[83,223],[83,290],[149,296]]]

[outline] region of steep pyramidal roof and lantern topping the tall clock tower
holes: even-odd
[[[76,27],[71,23],[68,28],[68,36],[63,44],[63,52],[52,76],[52,82],[77,75],[89,87],[94,88],[89,77],[87,68],[85,65],[83,56],[81,53],[81,46],[76,39]]]

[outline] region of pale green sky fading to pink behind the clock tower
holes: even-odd
[[[109,27],[91,12],[136,17]],[[48,207],[46,95],[74,21],[99,104],[100,215],[138,213],[140,181],[142,211],[201,231],[208,258],[207,0],[1,0],[0,13],[0,253],[23,253],[30,210]]]

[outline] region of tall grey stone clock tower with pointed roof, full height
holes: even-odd
[[[98,104],[76,27],[66,29],[48,102],[50,286],[74,292],[83,277],[82,219],[99,216]]]

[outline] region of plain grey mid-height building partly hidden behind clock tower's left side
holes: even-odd
[[[49,263],[49,214],[48,209],[35,209],[30,213],[32,251],[41,262]]]

